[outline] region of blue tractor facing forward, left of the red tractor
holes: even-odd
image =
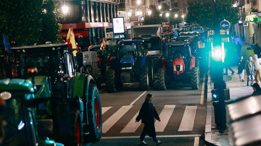
[[[116,55],[106,71],[108,93],[122,89],[123,83],[139,83],[141,90],[153,86],[153,61],[143,51],[144,40],[123,40],[119,42]]]

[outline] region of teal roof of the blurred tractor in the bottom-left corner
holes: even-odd
[[[26,90],[28,92],[34,92],[32,82],[23,79],[0,80],[0,90]]]

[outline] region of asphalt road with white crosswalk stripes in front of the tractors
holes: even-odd
[[[206,104],[203,101],[203,77],[199,90],[192,90],[187,84],[172,83],[166,91],[139,91],[139,84],[124,84],[122,91],[107,93],[102,86],[103,133],[99,142],[85,143],[85,146],[139,145],[143,124],[135,123],[136,114],[148,93],[154,96],[152,103],[160,115],[161,122],[155,122],[156,135],[161,145],[204,145]],[[205,97],[206,98],[206,97]],[[156,145],[146,137],[148,145]]]

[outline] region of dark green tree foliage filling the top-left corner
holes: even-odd
[[[60,24],[52,0],[2,0],[0,3],[0,54],[4,49],[2,33],[17,46],[59,42]],[[44,13],[43,8],[46,9]]]

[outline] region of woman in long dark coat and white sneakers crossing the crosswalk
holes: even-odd
[[[141,106],[139,115],[136,118],[136,122],[139,122],[141,120],[141,123],[144,123],[144,128],[140,136],[140,144],[143,145],[147,144],[146,142],[144,142],[146,134],[148,134],[149,137],[152,137],[153,141],[156,142],[157,145],[162,143],[156,137],[154,118],[160,122],[160,117],[154,105],[152,104],[152,100],[153,95],[147,94],[145,101]]]

